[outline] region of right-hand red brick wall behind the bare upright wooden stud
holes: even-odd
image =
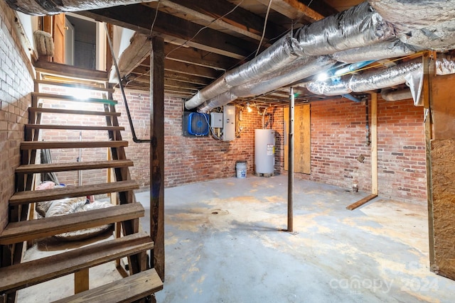
[[[281,123],[279,115],[275,121]],[[282,136],[281,125],[274,124],[274,129]],[[360,191],[370,192],[371,157],[365,134],[365,103],[346,99],[311,103],[311,175],[296,177],[346,189],[355,182]],[[277,153],[277,169],[287,173],[283,156]],[[421,203],[426,199],[422,108],[414,107],[412,100],[378,100],[378,187],[382,196]]]

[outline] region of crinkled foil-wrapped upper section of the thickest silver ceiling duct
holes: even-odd
[[[393,36],[392,26],[368,2],[304,26],[296,33],[306,55],[329,55]]]

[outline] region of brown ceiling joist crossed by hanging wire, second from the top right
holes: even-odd
[[[235,33],[240,33],[255,40],[261,40],[264,18],[242,9],[240,6],[236,7],[235,4],[229,1],[164,0],[161,1],[161,4],[183,13],[188,16],[188,20],[191,20],[191,17],[193,17],[192,19],[195,19],[195,17],[200,19],[203,21],[201,25],[213,23],[213,25],[226,28]],[[157,4],[151,2],[147,5],[153,7]],[[223,18],[221,18],[222,16]],[[197,21],[195,20],[194,22]],[[286,28],[269,22],[267,23],[265,39],[277,38],[286,31]]]

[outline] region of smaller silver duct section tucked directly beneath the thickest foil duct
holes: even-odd
[[[416,53],[417,48],[402,43],[397,38],[373,45],[343,50],[334,53],[332,57],[340,62],[355,63],[369,60],[382,60],[395,57],[403,57]]]

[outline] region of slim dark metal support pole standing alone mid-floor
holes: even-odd
[[[289,153],[287,172],[287,231],[294,232],[294,87],[289,92]]]

